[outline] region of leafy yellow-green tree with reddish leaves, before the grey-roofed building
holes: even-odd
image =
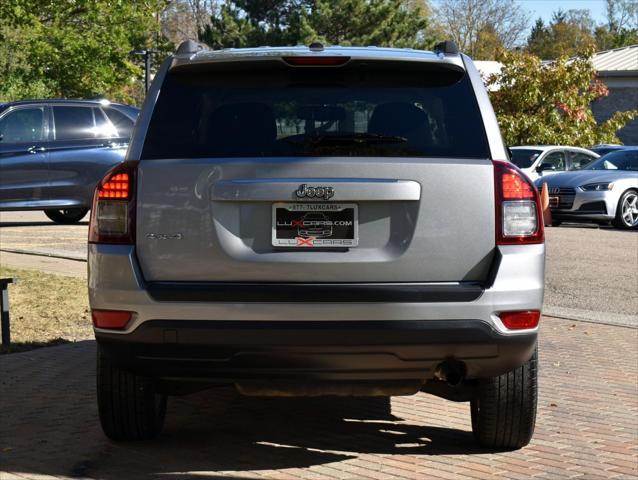
[[[616,132],[638,110],[616,112],[596,123],[591,103],[608,91],[595,77],[593,54],[588,47],[573,58],[542,63],[527,52],[502,53],[503,68],[487,85],[508,145],[619,143]]]

